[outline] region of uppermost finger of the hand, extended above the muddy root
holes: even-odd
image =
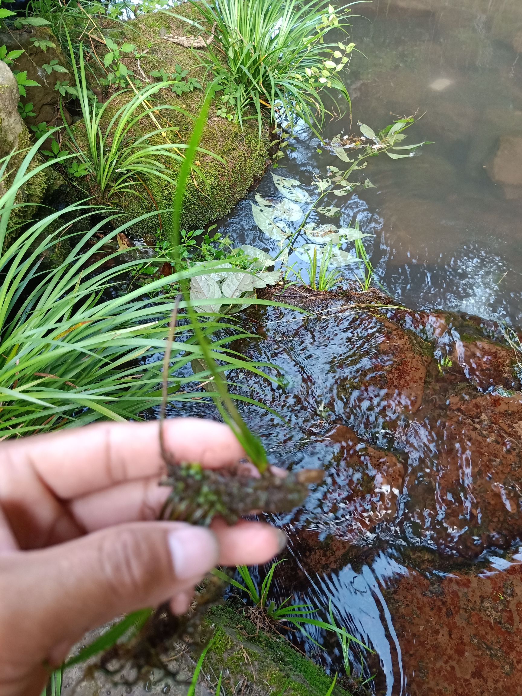
[[[199,418],[164,422],[166,449],[178,464],[206,468],[235,464],[244,450],[223,423]],[[162,475],[159,421],[97,423],[2,443],[0,459],[33,473],[62,500],[71,500],[125,481]],[[29,465],[29,466],[28,466]]]

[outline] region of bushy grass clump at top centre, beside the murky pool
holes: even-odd
[[[203,60],[223,87],[221,115],[240,123],[257,118],[261,134],[263,111],[272,120],[285,113],[291,124],[299,117],[317,132],[329,113],[325,88],[334,105],[337,92],[349,106],[340,72],[347,68],[354,44],[328,42],[331,29],[346,33],[349,5],[336,11],[328,0],[191,2],[214,26],[218,40]]]

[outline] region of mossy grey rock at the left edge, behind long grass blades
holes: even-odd
[[[8,171],[16,172],[26,150],[31,146],[29,131],[17,109],[19,100],[18,84],[13,72],[6,63],[0,61],[0,159],[13,152]],[[31,162],[31,168],[40,164],[38,155]],[[13,175],[8,177],[7,183]],[[35,174],[17,193],[17,207],[10,216],[10,224],[16,226],[29,220],[37,206],[42,202],[47,189],[48,175],[45,171]],[[6,193],[6,181],[0,182],[0,196]]]

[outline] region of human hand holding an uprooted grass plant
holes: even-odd
[[[244,456],[221,423],[164,425],[178,463]],[[158,434],[157,421],[104,423],[0,443],[0,696],[39,696],[45,665],[90,629],[168,600],[184,613],[216,564],[264,563],[284,546],[258,522],[157,521],[168,496]]]

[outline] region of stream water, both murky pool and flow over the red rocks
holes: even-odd
[[[522,324],[520,1],[376,0],[356,10],[364,16],[354,19],[352,35],[367,57],[354,54],[351,63],[352,131],[358,120],[377,130],[393,120],[390,114],[425,114],[409,141],[434,144],[411,159],[372,160],[365,175],[375,188],[329,203],[341,208],[342,226],[358,219],[372,235],[365,244],[379,282],[404,306]],[[348,118],[329,124],[327,136],[342,130],[350,131]],[[317,153],[318,145],[302,129],[278,173],[313,191],[314,175],[339,165],[333,155]],[[270,175],[256,191],[277,196]],[[276,251],[277,242],[253,223],[253,195],[219,230]],[[448,379],[434,380],[419,410],[426,372],[415,351],[400,367],[409,390],[397,387],[397,377],[400,398],[390,405],[379,375],[387,375],[389,386],[388,367],[404,358],[404,345],[402,354],[388,344],[383,349],[383,336],[395,329],[371,314],[332,316],[326,326],[324,315],[304,322],[287,310],[269,310],[260,331],[267,340],[254,351],[285,374],[285,387],[259,381],[255,395],[287,425],[255,409],[248,411],[251,424],[274,461],[326,466],[328,473],[326,493],[279,520],[290,547],[274,598],[331,602],[338,625],[374,651],[351,647],[354,672],[375,675],[367,684],[372,693],[522,693],[522,556],[516,543],[509,560],[487,551],[506,548],[517,535],[500,533],[509,522],[488,508],[491,491],[480,489],[493,476],[482,479],[481,466],[501,461],[500,467],[519,468],[522,417],[512,418],[511,439],[502,440],[489,418],[496,397],[476,379],[485,392],[478,399],[489,401],[469,398],[482,415],[459,401],[441,416],[441,404],[464,388],[464,377],[451,370]],[[420,397],[412,379],[421,385]],[[517,405],[509,408],[519,409],[513,398]],[[477,445],[474,438],[482,436]],[[500,446],[498,458],[492,442]],[[351,466],[354,457],[366,461],[364,470]],[[454,482],[445,480],[447,470]],[[505,496],[502,484],[493,485]],[[520,509],[513,485],[516,501],[503,497],[504,514]],[[327,649],[310,640],[301,648],[335,671],[339,646],[331,636],[313,637]]]

